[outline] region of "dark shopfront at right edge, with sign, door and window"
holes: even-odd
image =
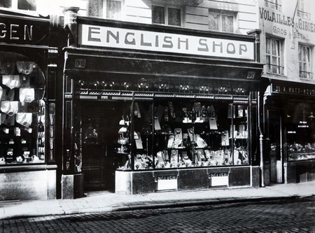
[[[314,181],[314,85],[271,80],[266,94],[270,182]]]

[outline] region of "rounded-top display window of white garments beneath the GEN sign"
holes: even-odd
[[[28,57],[0,52],[0,82],[0,164],[45,162],[43,71]]]

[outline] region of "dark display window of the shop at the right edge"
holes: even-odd
[[[315,159],[315,106],[290,103],[285,118],[285,153],[288,162]]]

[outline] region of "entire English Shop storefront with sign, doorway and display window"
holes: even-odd
[[[259,187],[258,36],[69,22],[64,197]]]

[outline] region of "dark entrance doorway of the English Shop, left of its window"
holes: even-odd
[[[115,101],[80,101],[78,105],[84,191],[115,192],[115,171],[120,166],[116,144],[125,106]]]

